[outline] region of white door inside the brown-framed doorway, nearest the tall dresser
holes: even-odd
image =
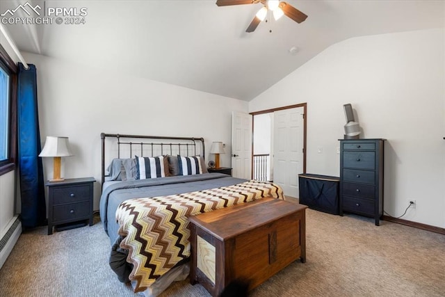
[[[273,182],[284,195],[298,198],[298,175],[303,172],[303,107],[274,112]]]

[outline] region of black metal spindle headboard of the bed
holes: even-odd
[[[205,157],[204,138],[202,137],[168,137],[168,136],[141,136],[128,134],[106,134],[101,133],[102,138],[102,185],[105,177],[105,161],[114,158],[133,158],[133,154],[139,156],[159,156],[165,154],[182,154],[185,156],[201,155]],[[107,143],[113,147],[106,150],[106,138],[111,141]],[[106,158],[105,154],[114,156]]]

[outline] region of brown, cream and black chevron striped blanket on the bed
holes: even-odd
[[[123,237],[120,247],[129,251],[127,262],[133,264],[129,279],[136,281],[134,291],[145,291],[161,275],[190,256],[188,216],[267,197],[284,199],[280,186],[250,181],[122,202],[116,218],[119,234]]]

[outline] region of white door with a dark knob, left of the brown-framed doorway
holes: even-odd
[[[252,115],[232,112],[232,176],[252,178]]]

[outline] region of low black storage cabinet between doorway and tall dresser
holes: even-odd
[[[339,214],[339,182],[339,177],[328,175],[298,175],[300,204],[328,214]]]

